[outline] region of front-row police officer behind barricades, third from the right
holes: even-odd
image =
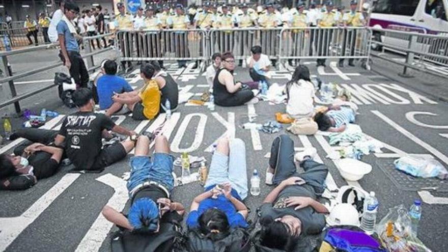
[[[296,6],[297,12],[294,12],[288,22],[290,27],[300,27],[298,29],[292,30],[292,54],[291,56],[297,57],[303,55],[303,45],[305,44],[305,27],[310,25],[308,16],[304,12],[305,3],[299,2]],[[299,64],[299,59],[295,60],[295,64]],[[293,60],[289,59],[288,64],[293,66]]]

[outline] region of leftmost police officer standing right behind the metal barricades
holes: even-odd
[[[117,27],[117,31],[120,30],[132,30],[133,28],[133,18],[131,15],[127,14],[125,12],[125,7],[123,3],[117,4],[117,9],[120,12],[115,17],[115,27]],[[132,36],[129,33],[118,33],[118,41],[120,41],[120,48],[122,52],[123,57],[132,57],[131,51],[133,43],[132,43]],[[122,63],[123,67],[126,66],[126,63]],[[128,66],[130,66],[131,63],[128,63]]]

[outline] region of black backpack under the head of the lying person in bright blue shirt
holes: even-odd
[[[186,237],[187,251],[191,252],[248,252],[251,247],[250,234],[246,229],[232,229],[221,240],[213,241],[197,229],[188,230]]]

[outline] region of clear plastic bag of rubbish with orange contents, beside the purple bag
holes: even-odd
[[[404,205],[389,208],[389,212],[375,226],[384,246],[393,252],[431,252],[411,230],[411,218]]]

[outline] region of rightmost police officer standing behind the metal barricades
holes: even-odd
[[[365,26],[364,16],[361,12],[356,11],[356,7],[358,2],[356,0],[352,0],[350,2],[350,11],[344,13],[342,17],[342,21],[345,27],[360,27]],[[347,48],[346,46],[350,46],[350,56],[355,55],[355,46],[356,46],[356,30],[344,30],[344,38],[342,43],[342,56],[346,55]],[[353,59],[348,60],[348,65],[354,67]],[[339,60],[339,67],[344,67],[344,59]]]

